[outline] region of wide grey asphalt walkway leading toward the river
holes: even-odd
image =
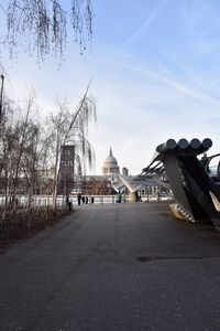
[[[220,233],[164,203],[77,209],[0,255],[0,330],[220,330]]]

